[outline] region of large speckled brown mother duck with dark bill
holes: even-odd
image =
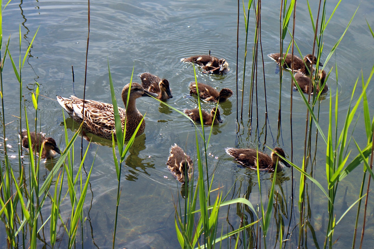
[[[131,88],[130,88],[131,86]],[[140,97],[157,97],[157,93],[151,93],[145,90],[141,84],[132,82],[126,84],[122,89],[122,101],[126,107],[127,95],[130,90],[129,102],[127,110],[118,107],[119,116],[121,119],[122,130],[125,127],[126,118],[126,136],[125,140],[129,140],[137,129],[138,124],[143,118],[140,111],[136,107],[136,99]],[[82,123],[83,120],[83,99],[71,95],[70,98],[63,98],[59,95],[56,96],[58,103],[62,108],[67,111],[69,116],[77,123]],[[114,139],[117,139],[116,128],[114,123],[113,105],[85,99],[85,119],[83,127],[86,131],[105,139],[112,139],[112,132]],[[145,122],[144,119],[140,128],[135,136],[139,136],[144,132]]]

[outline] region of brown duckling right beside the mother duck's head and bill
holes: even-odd
[[[141,84],[144,89],[147,89],[148,92],[157,93],[159,96],[157,99],[161,101],[166,101],[173,98],[171,95],[171,90],[169,82],[166,79],[160,79],[156,75],[150,73],[142,73],[138,75],[141,79]]]

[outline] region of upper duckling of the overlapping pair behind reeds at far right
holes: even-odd
[[[281,53],[270,53],[269,56],[273,61],[275,61],[278,65],[281,64]],[[283,59],[284,59],[284,63],[283,63],[283,68],[284,69],[288,69],[290,70],[291,69],[291,64],[292,64],[292,54],[288,53],[287,55],[285,53],[283,53]],[[306,55],[304,57],[304,60],[301,59],[300,57],[294,55],[294,72],[296,71],[301,71],[302,73],[306,74],[306,75],[309,75],[310,71],[314,71],[313,69],[313,65],[312,64],[317,64],[317,58],[316,56],[314,56],[313,58],[313,55],[309,54],[309,55]],[[309,70],[305,67],[305,65],[307,65],[307,67],[309,68]],[[323,67],[323,64],[321,62],[319,62],[319,64],[321,67]]]

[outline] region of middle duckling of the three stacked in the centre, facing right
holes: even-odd
[[[200,83],[200,82],[197,82],[197,87],[199,88],[200,98],[202,98],[205,101],[225,102],[228,98],[230,98],[233,95],[233,91],[229,88],[222,88],[221,91],[218,92],[213,87],[208,86],[207,84]],[[190,95],[192,94],[197,95],[195,82],[190,83],[190,89],[191,89]]]

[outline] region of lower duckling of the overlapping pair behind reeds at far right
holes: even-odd
[[[301,91],[303,93],[307,93],[307,94],[309,94],[309,86],[311,86],[310,92],[311,92],[311,94],[313,94],[315,84],[316,84],[316,93],[317,94],[319,92],[321,92],[321,94],[327,93],[327,91],[328,91],[327,84],[325,84],[324,88],[322,90],[320,90],[320,86],[322,86],[322,84],[324,84],[325,79],[326,79],[325,70],[318,70],[317,76],[313,76],[312,84],[309,84],[310,83],[310,76],[306,76],[305,74],[301,73],[300,71],[298,71],[295,74],[295,80],[299,84]],[[315,82],[315,80],[319,80],[319,84],[317,84]],[[295,82],[293,83],[293,86],[294,86],[295,89],[297,89],[297,87],[295,85]]]

